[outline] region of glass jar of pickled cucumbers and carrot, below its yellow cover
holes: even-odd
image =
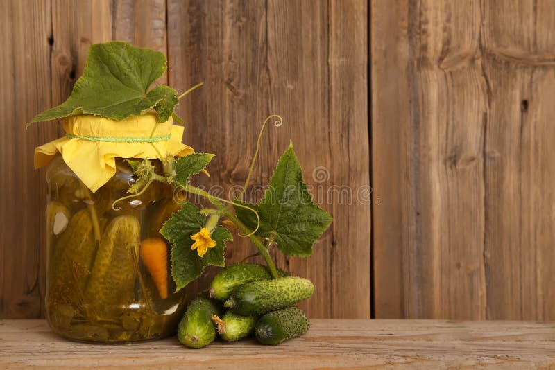
[[[160,161],[153,164],[161,168]],[[95,193],[60,155],[46,170],[46,315],[52,330],[71,340],[158,339],[176,330],[185,308],[159,233],[180,208],[173,188],[153,182],[112,208],[135,182],[126,161],[116,165],[114,177]],[[144,253],[148,243],[157,247]]]

